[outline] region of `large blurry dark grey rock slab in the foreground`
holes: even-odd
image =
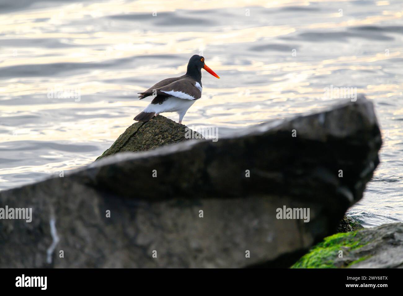
[[[0,205],[33,208],[31,223],[1,221],[0,267],[288,267],[361,199],[380,145],[360,98],[218,142],[105,157],[0,192]],[[284,205],[310,221],[276,219]]]

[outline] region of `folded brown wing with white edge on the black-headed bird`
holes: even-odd
[[[160,88],[150,88],[141,93],[141,98],[145,98],[150,95],[172,95],[180,99],[197,100],[202,97],[202,92],[195,87],[195,84],[196,81],[191,78],[182,78]]]

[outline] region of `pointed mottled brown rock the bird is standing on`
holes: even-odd
[[[96,160],[118,152],[137,152],[190,140],[185,137],[187,126],[179,124],[162,115],[147,122],[135,122]],[[194,132],[196,139],[203,136]]]

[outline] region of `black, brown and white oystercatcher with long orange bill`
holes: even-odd
[[[179,123],[182,123],[186,111],[202,97],[202,68],[214,77],[220,78],[204,64],[204,57],[195,54],[187,64],[185,75],[161,80],[139,93],[140,99],[152,96],[153,100],[134,120],[146,122],[163,112],[177,112]]]

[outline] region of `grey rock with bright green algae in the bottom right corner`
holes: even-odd
[[[397,268],[403,266],[403,223],[328,236],[291,268]]]

